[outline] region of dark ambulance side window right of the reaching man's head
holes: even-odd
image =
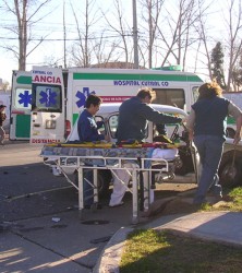
[[[185,93],[182,88],[173,90],[156,90],[156,99],[154,104],[171,105],[184,109],[185,106]]]

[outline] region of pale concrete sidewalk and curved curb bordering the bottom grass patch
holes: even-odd
[[[142,228],[172,229],[201,239],[242,247],[242,213],[198,212],[161,216]],[[133,228],[120,228],[107,244],[94,273],[119,272],[125,238]]]

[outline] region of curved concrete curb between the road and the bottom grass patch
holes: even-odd
[[[132,227],[121,227],[112,236],[93,269],[93,273],[119,273],[123,246],[128,234],[133,230]]]

